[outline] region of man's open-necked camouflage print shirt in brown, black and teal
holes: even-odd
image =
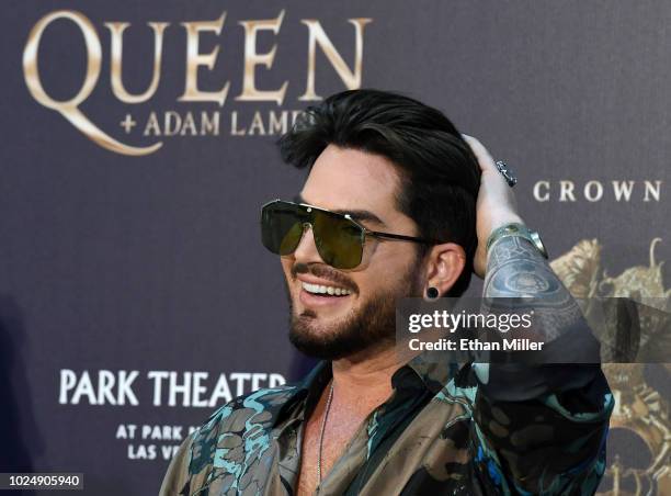
[[[480,367],[480,365],[478,365]],[[591,495],[605,466],[613,397],[598,365],[490,370],[418,357],[318,487],[325,495]],[[493,364],[492,364],[493,368]],[[306,418],[331,377],[223,406],[185,439],[161,495],[292,495]]]

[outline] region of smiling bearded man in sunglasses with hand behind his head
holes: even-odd
[[[218,409],[161,494],[593,494],[613,407],[599,365],[459,369],[394,349],[399,298],[458,296],[475,271],[486,296],[543,298],[548,340],[593,353],[511,172],[439,111],[376,90],[308,109],[280,145],[309,174],[294,202],[264,205],[263,243],[289,338],[322,361]]]

